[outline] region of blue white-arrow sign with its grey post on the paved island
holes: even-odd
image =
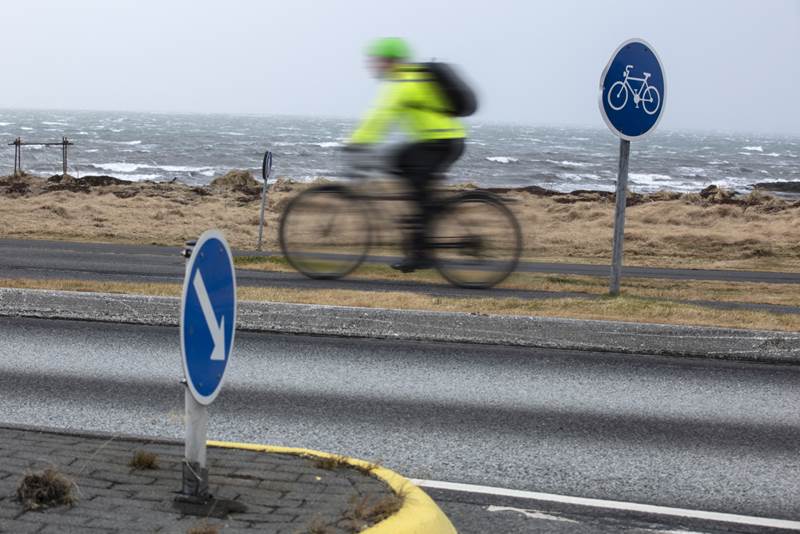
[[[223,235],[209,230],[188,242],[180,315],[180,341],[186,407],[183,484],[175,506],[203,515],[241,511],[232,501],[214,499],[208,488],[206,437],[208,405],[222,387],[236,331],[236,276]]]

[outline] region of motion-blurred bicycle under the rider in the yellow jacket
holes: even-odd
[[[378,202],[411,201],[408,194],[371,192],[343,183],[312,186],[294,197],[279,224],[281,250],[289,264],[313,279],[352,273],[379,243]],[[519,223],[505,201],[488,191],[438,192],[428,236],[434,268],[458,287],[489,288],[517,267],[522,250]],[[408,217],[393,226],[409,246]]]

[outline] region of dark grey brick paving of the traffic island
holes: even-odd
[[[130,467],[136,451],[155,453],[159,468]],[[0,427],[0,532],[186,533],[209,525],[225,534],[333,534],[354,531],[347,516],[359,502],[393,496],[379,479],[349,467],[323,469],[310,458],[209,448],[212,494],[247,511],[226,519],[186,516],[173,508],[182,459],[180,443]],[[75,482],[78,501],[25,511],[16,498],[20,481],[48,467]]]

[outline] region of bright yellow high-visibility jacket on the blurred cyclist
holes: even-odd
[[[350,143],[377,143],[395,123],[400,123],[414,141],[466,137],[464,125],[447,113],[447,107],[445,96],[427,70],[418,65],[397,65]]]

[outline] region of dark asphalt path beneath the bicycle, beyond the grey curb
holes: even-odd
[[[175,247],[110,245],[61,241],[0,239],[0,278],[77,279],[116,282],[179,283],[183,280],[184,260]],[[238,255],[253,255],[240,252]],[[373,257],[388,263],[396,258]],[[607,276],[604,265],[523,263],[520,271],[552,274]],[[625,276],[679,280],[722,280],[730,282],[800,283],[800,273],[715,271],[698,269],[655,269],[625,267]],[[525,291],[493,288],[484,291],[452,287],[445,282],[419,283],[344,279],[309,280],[297,273],[237,269],[237,283],[243,286],[269,286],[298,289],[352,289],[358,291],[414,291],[441,297],[483,298],[595,298],[579,292]],[[773,313],[800,313],[797,306],[738,302],[692,301],[719,309],[754,309]]]

